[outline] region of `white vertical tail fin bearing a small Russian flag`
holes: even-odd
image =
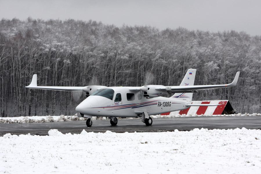
[[[188,69],[180,86],[193,86],[195,81],[196,69]],[[191,101],[193,93],[175,93],[172,97],[176,99]]]

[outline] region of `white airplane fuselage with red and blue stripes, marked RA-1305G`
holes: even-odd
[[[143,112],[147,112],[148,115],[156,115],[186,109],[188,108],[186,104],[190,103],[172,97],[144,97],[142,91],[133,92],[129,90],[129,87],[104,89],[111,89],[112,95],[110,97],[90,95],[75,110],[90,116],[137,117]],[[106,92],[108,93],[108,91]]]

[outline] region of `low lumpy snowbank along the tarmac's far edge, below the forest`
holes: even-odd
[[[253,114],[231,114],[231,115],[191,115],[191,114],[171,114],[171,115],[151,115],[152,118],[176,118],[176,117],[233,117],[233,116],[261,116],[260,113]],[[97,119],[97,117],[93,117]],[[106,119],[106,117],[99,117],[98,119]],[[129,118],[131,119],[131,118]],[[73,116],[26,116],[26,117],[0,117],[1,123],[43,123],[43,122],[63,122],[63,121],[77,121],[77,120],[86,120],[86,118],[79,118],[77,115]]]

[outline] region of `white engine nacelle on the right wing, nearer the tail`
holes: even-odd
[[[153,97],[160,97],[162,95],[167,94],[166,92],[160,91],[160,90],[156,90],[156,87],[162,87],[165,88],[165,86],[163,85],[146,85],[146,86],[142,86],[140,89],[143,91],[144,93],[144,97],[146,98],[153,98]]]

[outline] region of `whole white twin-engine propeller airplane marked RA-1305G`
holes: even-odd
[[[117,117],[140,117],[146,126],[151,126],[149,115],[156,115],[176,110],[183,110],[190,106],[217,106],[219,104],[192,104],[192,95],[198,90],[233,87],[237,84],[239,73],[230,84],[223,85],[194,85],[196,69],[189,69],[180,86],[146,85],[141,87],[122,86],[37,86],[37,75],[33,75],[32,82],[26,88],[86,92],[86,99],[76,108],[78,117],[88,118],[86,125],[92,126],[93,116],[110,118],[112,126],[117,125]],[[171,97],[162,97],[167,93],[174,93]]]

